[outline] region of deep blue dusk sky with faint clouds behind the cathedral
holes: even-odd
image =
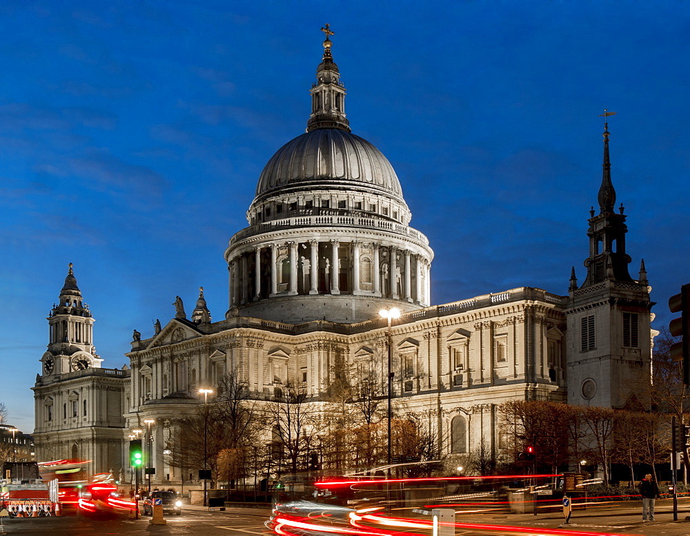
[[[435,251],[433,303],[580,282],[611,174],[658,305],[690,281],[687,1],[0,4],[0,400],[33,429],[46,317],[73,262],[103,367],[203,286],[270,156],[304,132],[324,35],[353,133]],[[598,207],[595,207],[598,212]]]

